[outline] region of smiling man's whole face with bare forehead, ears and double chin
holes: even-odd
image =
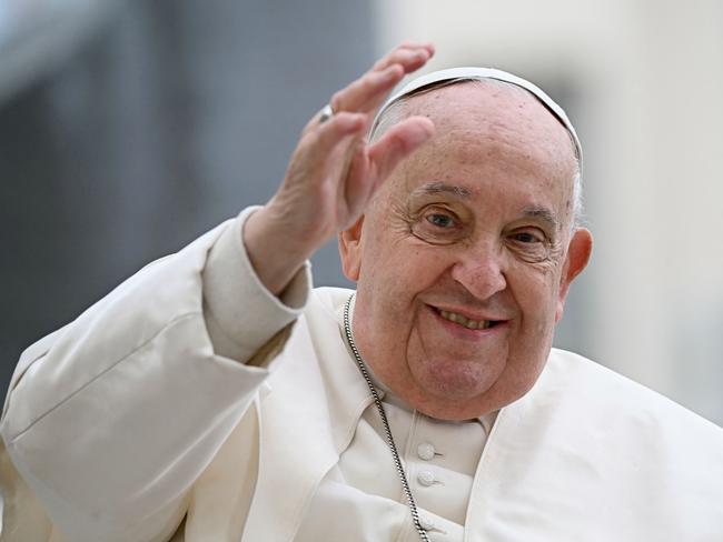
[[[355,339],[415,409],[475,418],[534,384],[587,262],[590,232],[571,228],[573,147],[517,89],[458,83],[406,107],[435,136],[340,238]]]

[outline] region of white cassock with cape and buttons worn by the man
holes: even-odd
[[[3,542],[418,540],[344,340],[349,291],[304,269],[270,295],[247,215],[24,352]],[[553,350],[525,397],[466,422],[382,392],[435,542],[723,541],[723,430],[590,360]]]

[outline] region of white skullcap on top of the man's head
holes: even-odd
[[[384,119],[387,117],[389,109],[394,108],[402,101],[407,99],[432,92],[436,89],[444,87],[454,86],[456,83],[462,83],[465,81],[498,81],[513,86],[521,90],[526,91],[532,97],[534,97],[542,106],[549,111],[549,113],[557,119],[557,121],[563,126],[570,139],[575,153],[575,159],[577,161],[577,171],[582,173],[582,160],[583,160],[583,150],[575,132],[575,128],[567,118],[565,111],[552,99],[549,98],[542,89],[539,89],[534,83],[523,79],[521,77],[514,76],[503,70],[497,70],[493,68],[476,68],[476,67],[465,67],[465,68],[452,68],[447,70],[439,70],[425,76],[418,77],[407,83],[400,91],[393,94],[387,102],[379,109],[377,112],[376,119],[372,124],[370,139],[374,139],[375,133],[382,129],[384,131],[385,127],[380,126]]]

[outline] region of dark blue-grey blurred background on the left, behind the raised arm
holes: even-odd
[[[30,342],[264,203],[308,117],[373,61],[372,30],[351,1],[4,2],[3,389]],[[339,283],[323,255],[315,279]]]

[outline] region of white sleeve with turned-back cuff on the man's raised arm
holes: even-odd
[[[273,364],[244,364],[299,315],[308,264],[281,299],[241,243],[249,209],[143,268],[30,347],[0,431],[18,472],[73,541],[170,535],[188,490]]]

